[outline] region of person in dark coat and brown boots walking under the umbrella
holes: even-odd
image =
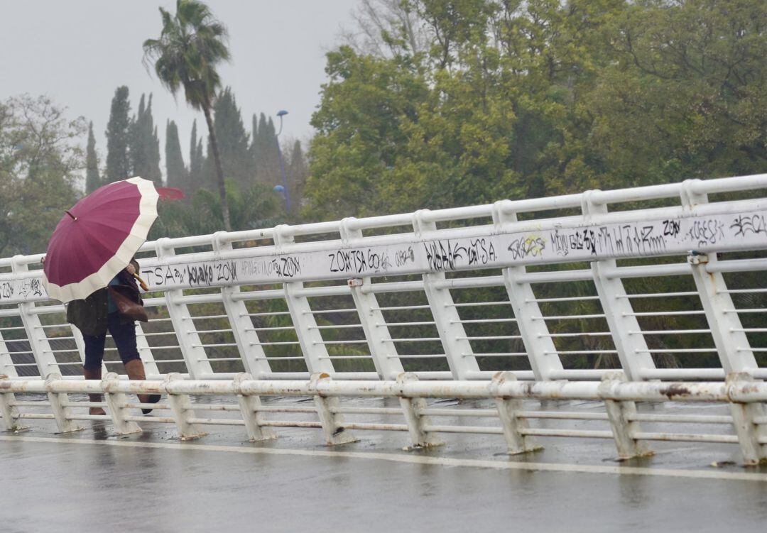
[[[139,265],[135,259],[123,268],[109,283],[109,286],[120,285],[122,288],[130,288],[129,292],[135,294],[140,301],[139,288],[133,275],[138,271]],[[85,363],[83,374],[86,380],[101,379],[101,364],[104,360],[104,344],[107,341],[107,331],[112,335],[117,353],[125,365],[125,371],[130,380],[145,380],[143,361],[136,345],[136,325],[131,317],[126,317],[117,311],[109,287],[100,288],[87,298],[73,300],[67,304],[67,322],[74,324],[83,334],[85,343]],[[160,401],[159,394],[139,394],[140,403],[157,403]],[[103,400],[101,394],[91,394],[91,402]],[[142,409],[142,413],[151,413],[151,409]],[[91,415],[104,415],[100,407],[91,407]]]

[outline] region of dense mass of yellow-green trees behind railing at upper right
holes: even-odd
[[[759,173],[759,0],[365,0],[328,54],[312,218]]]

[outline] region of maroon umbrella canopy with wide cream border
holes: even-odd
[[[67,302],[109,285],[146,241],[159,197],[151,181],[135,177],[77,202],[48,242],[43,267],[48,295]]]

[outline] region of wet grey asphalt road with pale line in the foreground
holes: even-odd
[[[312,429],[252,444],[242,428],[216,426],[180,443],[160,424],[117,437],[101,422],[68,436],[31,422],[0,433],[8,533],[767,528],[767,469],[711,466],[738,461],[733,446],[657,443],[656,456],[617,463],[610,441],[584,439],[510,458],[478,436],[406,452],[390,433],[328,449]]]

